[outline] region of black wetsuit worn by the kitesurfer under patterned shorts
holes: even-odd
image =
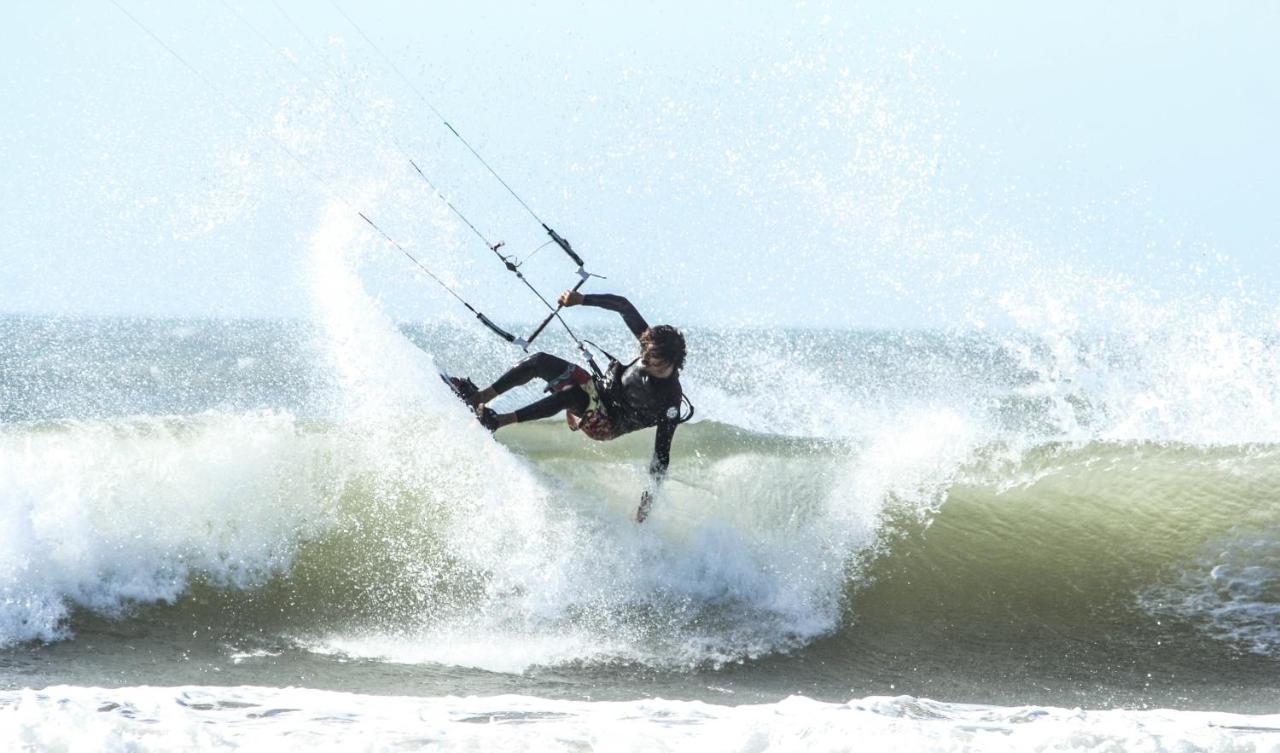
[[[636,307],[622,296],[588,295],[582,296],[582,305],[617,311],[637,338],[649,329],[649,324],[640,316]],[[553,382],[566,376],[573,368],[573,364],[550,353],[534,353],[494,382],[493,389],[502,394],[512,387],[525,384],[534,376]],[[644,371],[640,359],[626,365],[611,362],[603,382],[596,384],[596,391],[614,435],[649,426],[658,428],[649,473],[659,479],[666,475],[667,466],[671,464],[671,439],[676,434],[676,426],[680,425],[680,401],[684,396],[680,388],[680,376],[677,374],[672,374],[667,379],[650,376]],[[516,420],[545,419],[562,410],[570,410],[581,416],[588,411],[589,405],[590,396],[586,391],[573,385],[517,410]]]

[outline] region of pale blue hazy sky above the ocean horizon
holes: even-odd
[[[531,320],[408,168],[504,251],[545,241],[433,106],[650,318],[965,327],[1064,288],[1280,287],[1271,3],[120,4],[160,41],[110,0],[0,29],[0,312],[307,316],[337,204]],[[394,318],[458,314],[357,242]],[[576,280],[554,248],[525,269]]]

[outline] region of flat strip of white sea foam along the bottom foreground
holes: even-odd
[[[371,697],[266,688],[49,688],[0,695],[12,749],[1280,750],[1280,716],[1082,711],[867,697],[822,703]]]

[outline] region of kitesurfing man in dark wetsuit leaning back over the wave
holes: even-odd
[[[586,295],[564,291],[561,306],[596,306],[617,311],[640,341],[640,357],[622,365],[609,361],[603,380],[598,380],[563,359],[534,353],[516,364],[492,385],[477,389],[470,379],[451,379],[462,400],[476,410],[476,417],[495,432],[508,424],[534,421],[566,411],[570,429],[591,439],[613,439],[639,429],[657,426],[653,458],[649,462],[649,488],[640,496],[636,522],[644,522],[653,494],[667,475],[671,439],[681,423],[680,369],[685,365],[685,337],[666,324],[649,327],[635,306],[622,296]],[[486,403],[534,376],[547,382],[548,397],[509,414],[499,414]]]

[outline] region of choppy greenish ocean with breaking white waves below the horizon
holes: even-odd
[[[6,749],[1280,749],[1274,333],[689,328],[636,525],[652,432],[490,437],[348,243],[0,319]]]

